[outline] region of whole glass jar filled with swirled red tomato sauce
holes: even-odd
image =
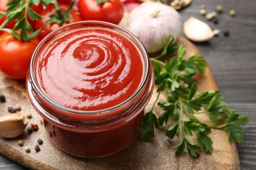
[[[152,72],[144,47],[129,31],[79,22],[37,46],[27,89],[53,144],[75,156],[107,156],[137,137]]]

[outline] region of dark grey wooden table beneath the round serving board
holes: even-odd
[[[223,13],[218,14],[219,24],[200,16],[202,4],[209,12],[215,10],[216,5],[223,5]],[[234,18],[228,15],[230,9],[236,10]],[[229,106],[249,116],[249,124],[243,127],[245,143],[237,146],[241,169],[256,169],[256,1],[193,0],[180,14],[182,21],[196,16],[212,29],[228,29],[230,32],[229,37],[221,34],[211,41],[194,44],[209,63]],[[0,155],[0,169],[25,168]]]

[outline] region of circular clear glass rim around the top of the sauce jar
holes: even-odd
[[[118,103],[117,105],[114,105],[113,107],[109,107],[106,109],[100,109],[100,110],[75,110],[75,109],[70,109],[67,107],[64,107],[62,105],[59,105],[58,103],[54,102],[53,100],[49,99],[49,97],[47,97],[47,95],[45,95],[45,93],[41,92],[39,86],[37,85],[37,81],[35,80],[34,77],[34,66],[33,63],[35,61],[35,56],[37,55],[37,52],[39,51],[39,49],[43,46],[44,42],[47,41],[49,39],[49,37],[53,36],[55,33],[57,33],[58,31],[64,29],[65,32],[61,32],[61,33],[66,33],[66,31],[68,31],[66,28],[67,27],[72,27],[74,25],[94,25],[96,27],[111,27],[112,29],[118,31],[118,33],[121,33],[122,35],[125,35],[125,37],[130,36],[131,39],[130,41],[135,41],[137,44],[135,44],[135,46],[137,46],[137,48],[139,48],[139,50],[141,50],[141,54],[142,54],[142,59],[144,59],[144,76],[142,77],[142,81],[139,84],[139,87],[137,88],[137,90],[133,93],[133,95],[131,95],[128,99],[126,99],[125,101]],[[96,24],[96,25],[95,25]],[[56,109],[60,109],[60,110],[65,110],[67,112],[69,112],[70,114],[74,114],[74,115],[84,115],[84,116],[89,116],[89,115],[94,115],[95,114],[100,114],[103,112],[109,112],[110,110],[116,110],[119,109],[120,107],[124,106],[126,103],[128,103],[129,101],[133,101],[133,99],[135,99],[137,97],[137,95],[139,94],[139,92],[142,90],[142,88],[145,86],[145,84],[147,83],[147,80],[149,78],[149,73],[150,72],[150,59],[148,56],[148,53],[146,52],[146,49],[144,48],[143,44],[139,41],[139,39],[133,35],[133,33],[131,33],[130,31],[128,31],[127,29],[116,25],[116,24],[111,24],[108,22],[102,22],[102,21],[96,21],[96,20],[89,20],[89,21],[81,21],[81,22],[74,22],[72,24],[67,24],[64,25],[62,27],[59,27],[58,29],[55,29],[53,32],[49,33],[49,35],[47,35],[41,42],[39,42],[39,44],[37,45],[37,47],[35,48],[33,54],[32,54],[32,58],[30,61],[30,69],[29,69],[29,76],[30,76],[30,81],[32,83],[33,89],[40,95],[40,97],[43,98],[43,100],[47,101],[47,103],[49,103],[51,106],[53,106]]]

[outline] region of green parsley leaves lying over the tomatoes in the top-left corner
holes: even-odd
[[[46,6],[50,3],[55,5],[56,15],[51,15],[51,19],[47,21],[46,24],[56,23],[62,25],[64,22],[67,22],[73,18],[73,16],[69,16],[74,5],[73,1],[68,10],[61,12],[56,0],[12,0],[9,1],[7,5],[7,12],[0,13],[1,17],[7,16],[7,20],[0,25],[0,30],[11,33],[12,36],[19,41],[30,41],[31,39],[37,37],[41,29],[34,31],[32,25],[30,25],[30,22],[28,22],[28,17],[31,20],[41,20],[41,15],[37,14],[37,12],[30,8],[31,5],[38,5],[39,3],[43,3]],[[4,28],[5,25],[7,25],[11,20],[16,21],[13,29]],[[20,30],[20,32],[17,32],[16,30]]]

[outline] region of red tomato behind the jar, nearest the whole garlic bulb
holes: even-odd
[[[123,17],[123,4],[120,0],[109,0],[100,4],[97,4],[96,0],[79,0],[77,6],[83,20],[118,24]]]

